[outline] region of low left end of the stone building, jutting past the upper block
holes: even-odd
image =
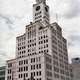
[[[17,80],[17,59],[7,61],[5,80]]]

